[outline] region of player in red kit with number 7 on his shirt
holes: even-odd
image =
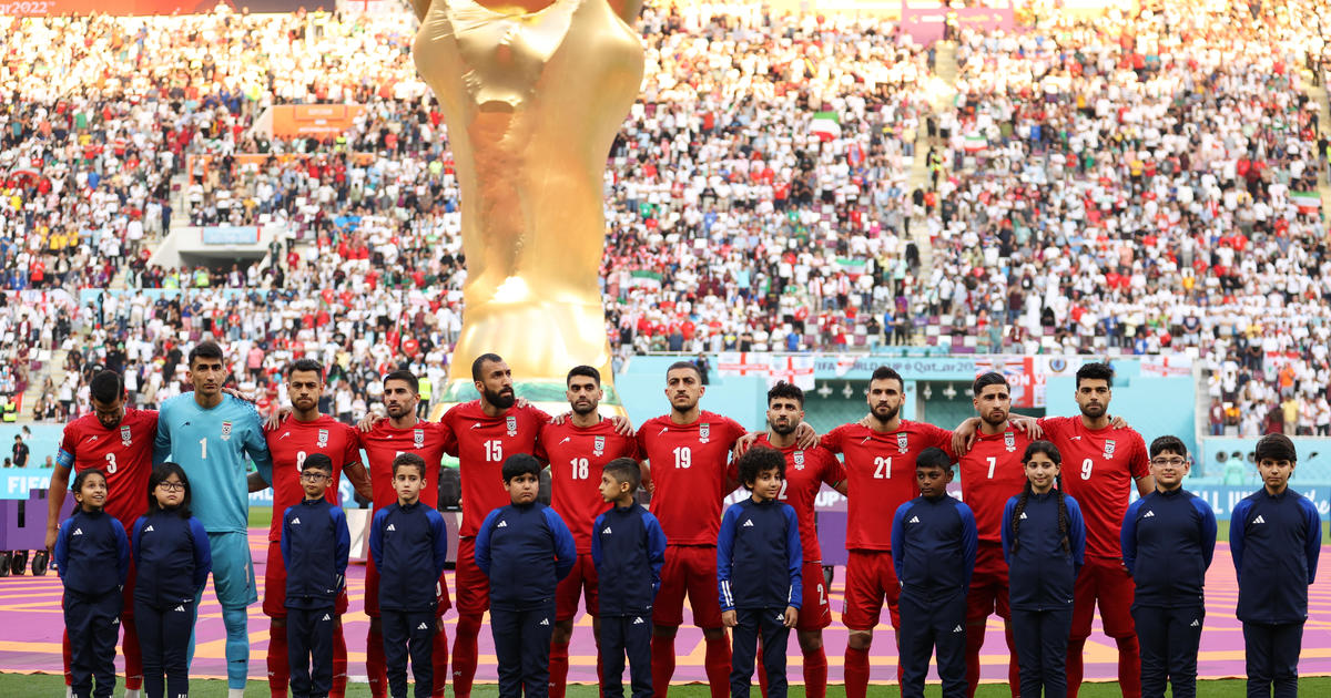
[[[1025,431],[1008,420],[1012,388],[1002,374],[988,372],[972,384],[972,404],[980,413],[980,431],[974,445],[961,456],[961,499],[976,517],[980,546],[976,572],[966,593],[966,695],[974,698],[980,683],[980,647],[985,642],[985,624],[997,612],[1008,641],[1008,685],[1013,698],[1021,691],[1017,670],[1017,645],[1012,636],[1012,612],[1008,605],[1008,562],[1002,553],[1002,511],[1008,500],[1026,487],[1021,456],[1030,444]]]

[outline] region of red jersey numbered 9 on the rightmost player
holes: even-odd
[[[1040,425],[1058,447],[1062,488],[1086,520],[1086,554],[1123,557],[1119,533],[1133,480],[1150,475],[1146,441],[1135,429],[1087,429],[1079,416],[1044,417]]]

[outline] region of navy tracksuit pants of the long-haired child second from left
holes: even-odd
[[[194,632],[194,602],[158,608],[136,600],[134,622],[144,655],[144,693],[148,698],[188,695],[186,653]]]

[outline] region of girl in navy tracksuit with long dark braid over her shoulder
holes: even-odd
[[[1032,443],[1021,463],[1026,489],[1008,500],[1002,512],[1020,695],[1063,698],[1073,588],[1086,554],[1086,523],[1077,500],[1054,488],[1062,463],[1054,444]]]

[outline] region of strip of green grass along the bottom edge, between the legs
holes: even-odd
[[[1331,678],[1303,678],[1299,679],[1299,691],[1304,695],[1331,695]],[[676,698],[709,698],[707,686],[672,686],[671,695]],[[124,687],[116,686],[116,697],[124,694]],[[189,694],[193,698],[226,698],[225,681],[190,681]],[[924,691],[929,698],[940,695],[938,686],[929,686]],[[1207,698],[1242,698],[1246,694],[1243,681],[1201,681],[1197,687],[1198,695]],[[21,675],[0,674],[0,695],[49,695],[52,698],[64,695],[64,681],[49,674]],[[245,689],[246,698],[268,698],[266,683],[249,682]],[[369,698],[370,687],[365,683],[351,683],[346,690],[347,698]],[[450,689],[449,695],[453,695]],[[494,683],[478,683],[471,691],[475,698],[495,698],[499,695]],[[757,686],[752,695],[761,695]],[[791,686],[791,698],[804,698],[803,686]],[[894,698],[900,695],[896,686],[869,686],[869,698]],[[977,698],[1010,698],[1012,693],[1005,685],[984,685],[976,691]],[[1118,683],[1082,683],[1082,698],[1118,698],[1122,693]],[[591,686],[570,686],[568,698],[596,698],[596,690]],[[845,698],[841,686],[828,686],[828,698]]]

